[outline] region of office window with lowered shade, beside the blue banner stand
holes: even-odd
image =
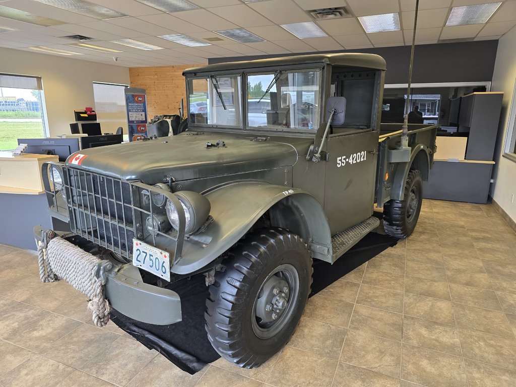
[[[127,134],[127,114],[125,111],[124,89],[127,85],[93,82],[93,98],[97,120],[102,125],[102,133],[116,133],[122,126]]]

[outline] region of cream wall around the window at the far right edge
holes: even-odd
[[[496,63],[494,66],[493,83],[491,91],[503,91],[503,108],[500,118],[499,135],[495,151],[495,183],[491,187],[491,196],[504,209],[504,211],[516,220],[516,199],[511,203],[511,195],[516,197],[516,163],[502,157],[505,139],[507,137],[507,125],[509,111],[513,98],[514,81],[516,80],[516,28],[512,28],[498,42]]]

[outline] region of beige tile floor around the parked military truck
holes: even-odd
[[[92,326],[84,296],[0,245],[0,385],[512,387],[514,246],[492,206],[425,200],[414,234],[311,298],[277,356],[190,376],[112,323]]]

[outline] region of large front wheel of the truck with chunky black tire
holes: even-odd
[[[270,228],[230,251],[206,300],[213,348],[240,367],[261,365],[292,337],[310,293],[312,259],[300,236]]]

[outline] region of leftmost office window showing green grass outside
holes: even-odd
[[[15,149],[19,138],[47,134],[41,78],[0,73],[0,150]]]

